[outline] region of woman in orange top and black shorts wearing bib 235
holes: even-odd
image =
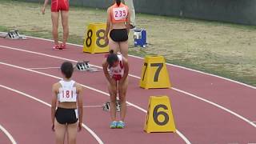
[[[130,10],[121,0],[107,9],[105,41],[109,42],[110,50],[118,51],[128,58],[128,34],[130,31]],[[110,40],[108,34],[110,32]]]

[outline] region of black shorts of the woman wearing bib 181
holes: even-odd
[[[65,108],[58,107],[55,113],[55,118],[57,122],[62,125],[78,122],[78,118],[74,110],[75,109],[65,109]]]

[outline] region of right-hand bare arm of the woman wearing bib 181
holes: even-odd
[[[79,116],[79,123],[78,123],[78,131],[82,130],[82,86],[77,84],[78,90],[78,116]]]

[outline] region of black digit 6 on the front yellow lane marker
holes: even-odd
[[[157,105],[157,106],[155,106],[154,107],[154,110],[153,110],[153,118],[154,118],[154,122],[156,123],[156,124],[158,124],[159,126],[164,126],[164,125],[166,125],[166,123],[167,122],[169,122],[169,115],[166,113],[166,112],[164,112],[164,111],[159,111],[158,112],[158,109],[159,108],[163,108],[164,110],[168,110],[168,108],[167,108],[167,106],[166,105]],[[159,122],[158,121],[158,116],[159,115],[162,115],[162,116],[164,116],[164,121],[163,122]]]

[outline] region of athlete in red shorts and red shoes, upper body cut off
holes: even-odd
[[[42,6],[42,14],[45,14],[46,5],[49,0],[45,0],[44,5]],[[69,25],[68,25],[68,12],[69,12],[69,0],[51,0],[51,20],[52,20],[52,34],[54,38],[54,49],[65,49],[66,41],[69,36]],[[62,17],[62,27],[63,27],[63,42],[62,44],[58,43],[58,17],[59,11],[61,12]]]

